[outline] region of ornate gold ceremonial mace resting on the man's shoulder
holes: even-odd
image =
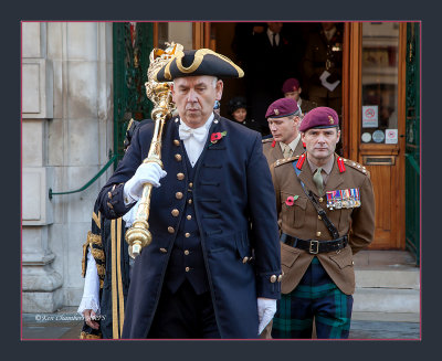
[[[175,104],[171,102],[171,83],[157,83],[152,79],[164,65],[166,65],[178,52],[182,52],[181,44],[166,43],[166,50],[154,49],[150,52],[150,65],[147,71],[148,82],[146,82],[147,97],[154,103],[151,118],[155,121],[154,136],[150,144],[147,158],[144,163],[156,162],[162,168],[161,162],[161,136],[162,128],[167,119],[171,117]],[[135,215],[135,221],[129,230],[126,232],[126,242],[129,244],[129,256],[135,258],[140,253],[143,247],[148,246],[151,242],[151,234],[148,231],[149,223],[149,209],[150,209],[150,194],[152,190],[151,183],[145,183],[143,187],[143,194],[140,198],[139,206]]]

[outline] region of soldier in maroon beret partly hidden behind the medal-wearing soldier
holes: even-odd
[[[265,113],[273,138],[263,139],[263,151],[269,166],[277,159],[290,158],[304,152],[298,126],[301,109],[292,98],[273,102]]]

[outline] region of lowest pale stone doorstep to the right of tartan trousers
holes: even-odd
[[[356,288],[355,312],[420,312],[419,289]]]

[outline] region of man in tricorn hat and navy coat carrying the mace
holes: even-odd
[[[135,259],[123,338],[257,338],[274,315],[281,251],[261,136],[213,113],[220,77],[241,76],[210,50],[179,52],[155,75],[173,81],[179,114],[165,125],[164,169],[141,164],[154,132],[141,126],[99,193],[102,213],[114,219],[144,183],[156,187],[152,242]]]

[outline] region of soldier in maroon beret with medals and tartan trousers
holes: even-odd
[[[273,338],[311,338],[313,319],[317,338],[348,338],[352,256],[373,238],[375,195],[367,169],[335,153],[338,124],[332,108],[308,112],[306,151],[271,166],[284,272]]]

